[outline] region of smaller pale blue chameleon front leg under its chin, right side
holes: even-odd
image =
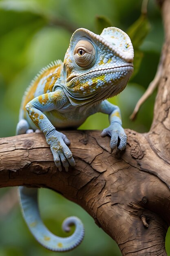
[[[105,137],[106,135],[109,135],[111,137],[111,152],[117,147],[118,140],[120,140],[118,149],[124,150],[126,148],[127,136],[121,126],[122,122],[119,107],[105,100],[100,104],[98,111],[109,115],[110,126],[102,131],[101,136]]]

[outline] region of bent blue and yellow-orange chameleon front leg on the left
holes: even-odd
[[[68,166],[75,166],[71,150],[68,148],[70,141],[62,132],[55,130],[49,119],[42,113],[57,110],[67,101],[62,91],[49,92],[34,98],[26,105],[26,110],[33,123],[44,132],[47,143],[50,145],[55,165],[62,171],[62,165],[68,171]],[[61,165],[62,164],[62,165]]]

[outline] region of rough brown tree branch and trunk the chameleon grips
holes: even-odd
[[[159,1],[160,2],[160,1]],[[123,255],[165,256],[170,225],[170,0],[161,1],[166,32],[153,123],[126,130],[128,145],[110,154],[99,131],[66,131],[76,166],[56,171],[41,134],[0,139],[0,186],[46,187],[81,205]]]

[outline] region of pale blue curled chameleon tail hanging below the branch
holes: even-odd
[[[64,231],[70,231],[70,226],[75,225],[75,231],[71,236],[62,238],[52,234],[44,225],[40,218],[38,209],[38,189],[29,189],[24,186],[19,187],[20,204],[24,219],[38,242],[56,252],[65,252],[74,249],[84,238],[84,226],[77,217],[66,218],[62,224]]]

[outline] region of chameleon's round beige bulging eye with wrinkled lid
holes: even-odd
[[[75,63],[80,67],[88,67],[95,59],[95,48],[87,40],[80,40],[74,48]]]

